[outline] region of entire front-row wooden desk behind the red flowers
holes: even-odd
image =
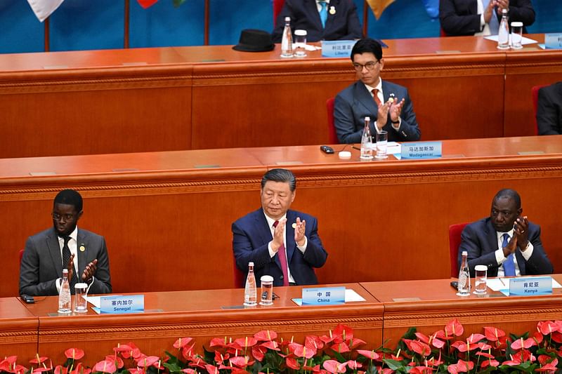
[[[562,281],[560,274],[553,277]],[[279,334],[279,340],[302,344],[306,335],[329,335],[338,323],[353,328],[354,337],[367,342],[361,349],[377,349],[383,342],[393,349],[408,328],[429,335],[455,318],[464,326],[459,339],[483,333],[483,326],[519,335],[534,331],[539,321],[562,319],[560,288],[552,295],[528,297],[506,297],[488,288],[485,295],[464,298],[449,283],[450,279],[345,283],[336,286],[355,290],[365,301],[305,307],[292,301],[301,297],[302,286],[276,287],[279,298],[270,307],[243,307],[241,289],[145,293],[141,314],[98,315],[89,305],[86,314],[61,315],[56,313],[55,296],[36,298],[34,305],[4,298],[0,354],[18,354],[19,362],[25,363],[39,352],[57,365],[65,361],[65,350],[74,347],[84,349],[86,356],[80,361],[93,366],[119,343],[133,342],[144,354],[164,356],[164,350],[177,352],[172,345],[178,338],[189,337],[202,353],[212,338],[234,340],[269,329]],[[19,340],[8,344],[15,337]]]

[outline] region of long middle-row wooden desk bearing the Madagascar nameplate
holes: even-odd
[[[443,159],[426,161],[359,162],[351,147],[340,160],[318,145],[0,159],[0,253],[18,264],[27,236],[52,225],[55,194],[72,187],[85,199],[79,227],[106,238],[114,292],[232,288],[230,225],[259,208],[263,173],[287,167],[297,176],[292,208],[318,218],[329,253],[322,283],[449,276],[449,225],[485,217],[506,187],[561,269],[561,139],[445,140]],[[1,295],[17,295],[18,267],[0,281]]]

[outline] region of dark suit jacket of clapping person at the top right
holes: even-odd
[[[439,21],[441,28],[447,35],[474,35],[481,32],[480,15],[476,13],[476,0],[439,0]],[[496,12],[498,13],[498,12]],[[535,10],[530,0],[509,0],[509,23],[523,22],[523,34],[527,33],[525,26],[535,22]],[[497,14],[498,22],[502,14]]]

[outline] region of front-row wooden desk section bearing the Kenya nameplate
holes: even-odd
[[[562,276],[554,278],[560,282]],[[464,326],[463,337],[483,333],[493,326],[506,333],[521,335],[536,331],[537,322],[562,318],[562,290],[552,295],[506,297],[488,288],[485,295],[456,295],[450,279],[361,283],[371,295],[384,303],[383,339],[394,348],[408,328],[430,335],[443,330],[452,319]]]

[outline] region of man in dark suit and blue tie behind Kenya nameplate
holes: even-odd
[[[486,265],[488,276],[552,274],[553,268],[540,241],[540,227],[521,215],[521,197],[502,189],[492,200],[489,218],[467,225],[461,234],[462,251],[469,254],[469,269]]]

